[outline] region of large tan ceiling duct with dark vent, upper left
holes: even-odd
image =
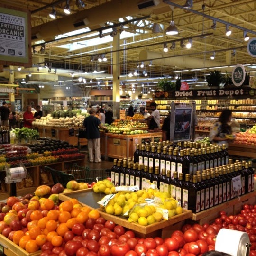
[[[64,16],[56,20],[32,27],[32,41],[52,40],[56,35],[65,34],[75,29],[89,27],[90,29],[101,28],[107,21],[141,14],[143,16],[158,13],[158,9],[163,9],[166,4],[159,3],[146,9],[138,8],[138,0],[113,0],[90,9],[82,10],[72,15]]]

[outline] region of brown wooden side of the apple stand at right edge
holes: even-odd
[[[256,146],[229,143],[228,153],[229,155],[244,156],[256,159]]]

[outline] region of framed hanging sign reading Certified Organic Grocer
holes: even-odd
[[[0,7],[0,60],[28,62],[26,12]]]

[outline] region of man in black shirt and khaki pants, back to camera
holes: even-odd
[[[105,127],[101,124],[100,119],[95,117],[95,113],[96,113],[96,110],[91,108],[89,110],[90,116],[85,118],[83,121],[83,126],[86,128],[86,138],[88,143],[90,163],[92,163],[93,160],[95,161],[95,163],[101,162],[99,127],[101,129],[105,129]],[[93,155],[93,149],[95,152],[95,157]]]

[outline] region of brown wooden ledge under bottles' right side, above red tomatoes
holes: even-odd
[[[197,221],[199,224],[212,223],[216,218],[219,218],[219,211],[226,211],[227,215],[235,215],[242,210],[243,204],[255,204],[256,190],[239,196],[235,199],[216,205],[208,210],[203,210],[199,213],[192,214],[192,220]]]

